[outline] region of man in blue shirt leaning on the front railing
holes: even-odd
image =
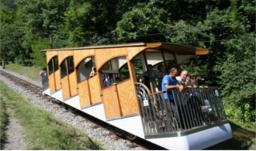
[[[172,96],[172,92],[171,92],[173,90],[170,90],[170,89],[178,88],[179,91],[182,91],[184,89],[183,85],[178,85],[178,82],[175,78],[177,76],[178,76],[178,70],[176,68],[171,68],[169,75],[164,76],[161,87],[162,87],[162,91],[168,90],[164,93],[164,100],[168,108],[170,108],[169,105],[171,105],[172,114],[178,121],[178,114],[175,108],[174,96]],[[168,102],[168,99],[170,101],[170,104]]]

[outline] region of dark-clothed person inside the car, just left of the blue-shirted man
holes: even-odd
[[[149,71],[149,73],[150,73],[150,77],[151,77],[151,78],[152,78],[152,77],[161,77],[161,75],[158,74],[158,72],[157,72],[156,70],[153,70],[152,64],[148,64],[148,65],[147,65],[147,68],[148,68],[148,71]],[[142,82],[142,81],[144,80],[144,83],[146,84],[146,82],[145,82],[145,77],[148,77],[148,75],[147,75],[147,70],[140,76],[140,82]],[[147,85],[148,88],[150,88],[150,87],[149,87],[149,84],[146,84],[146,85]],[[154,91],[155,91],[155,88],[157,88],[157,84],[156,84],[154,78],[152,79],[152,85],[153,85]]]

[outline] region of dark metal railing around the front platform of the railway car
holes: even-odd
[[[151,94],[140,83],[135,88],[145,136],[185,132],[227,120],[218,88],[174,89],[174,100],[164,99],[170,91]]]

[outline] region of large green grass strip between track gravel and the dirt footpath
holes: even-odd
[[[12,109],[14,117],[26,134],[29,150],[88,150],[100,149],[97,142],[88,139],[85,132],[55,118],[50,112],[33,105],[5,84],[0,84],[1,100]]]

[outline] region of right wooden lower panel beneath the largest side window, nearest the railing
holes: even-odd
[[[116,85],[118,97],[123,115],[132,115],[137,113],[139,115],[139,108],[137,105],[137,96],[134,93],[134,86],[132,81],[124,81]]]

